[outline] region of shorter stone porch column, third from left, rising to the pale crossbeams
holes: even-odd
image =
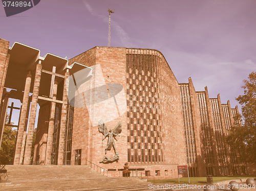
[[[57,96],[57,87],[58,82],[54,82],[53,85],[53,101],[51,103],[51,111],[50,111],[50,119],[49,119],[49,126],[48,126],[48,136],[47,136],[47,146],[46,146],[46,159],[45,164],[51,164],[51,154],[52,154],[52,141],[53,141],[53,130],[54,130],[54,116],[55,116],[55,108],[56,108],[56,96]]]

